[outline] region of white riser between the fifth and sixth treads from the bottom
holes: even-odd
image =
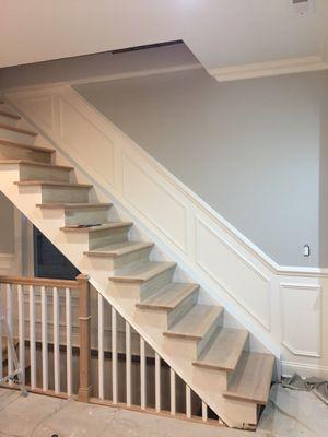
[[[119,257],[97,257],[90,255],[86,256],[90,259],[90,264],[95,270],[106,270],[114,273],[115,271],[122,269],[127,265],[132,267],[148,261],[151,250],[152,248],[149,247]]]

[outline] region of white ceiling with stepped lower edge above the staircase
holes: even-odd
[[[0,68],[183,39],[219,81],[328,69],[328,0],[294,1],[1,0]]]

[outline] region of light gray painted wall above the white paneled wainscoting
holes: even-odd
[[[327,85],[327,73],[220,84],[194,70],[75,90],[278,263],[327,267],[318,232]]]

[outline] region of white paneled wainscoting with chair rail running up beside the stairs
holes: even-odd
[[[328,270],[277,264],[71,86],[14,90],[4,97],[62,163],[75,166],[79,180],[92,182],[99,199],[115,201],[133,220],[138,236],[156,244],[156,256],[178,262],[178,280],[199,283],[282,357],[283,373],[295,363],[303,374],[328,377]],[[298,329],[302,319],[307,322]]]

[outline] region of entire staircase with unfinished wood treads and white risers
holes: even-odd
[[[110,221],[114,205],[57,165],[55,150],[22,122],[0,105],[0,189],[224,423],[256,426],[274,357],[251,352],[248,332],[225,327],[224,308],[203,304],[198,284],[177,282],[176,263],[154,260],[152,241],[132,239],[132,222]]]

